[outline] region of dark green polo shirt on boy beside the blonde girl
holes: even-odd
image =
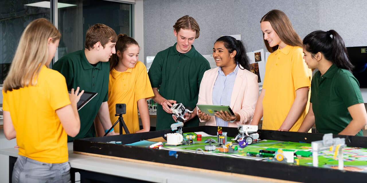
[[[95,137],[93,120],[97,116],[102,102],[108,100],[109,62],[98,62],[92,66],[84,53],[84,49],[69,53],[59,59],[52,69],[59,71],[66,79],[68,90],[76,89],[98,93],[79,112],[80,131],[74,138],[68,136],[68,141],[73,139]]]

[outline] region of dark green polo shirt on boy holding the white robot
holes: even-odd
[[[199,86],[204,72],[210,69],[209,62],[200,55],[192,45],[187,53],[179,53],[176,44],[157,53],[148,75],[152,87],[159,88],[162,97],[175,100],[185,107],[196,107],[199,95]],[[163,110],[161,105],[157,106],[156,130],[171,129],[175,123],[172,114]],[[199,126],[199,118],[184,123],[184,127]]]

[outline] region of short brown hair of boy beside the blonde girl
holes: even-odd
[[[98,41],[101,42],[101,45],[105,48],[108,41],[117,41],[116,32],[109,26],[102,23],[96,23],[87,30],[84,48],[87,48],[88,50],[93,49],[93,45]]]

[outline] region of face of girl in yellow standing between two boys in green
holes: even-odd
[[[117,56],[119,57],[119,63],[122,64],[121,68],[126,71],[128,68],[133,68],[138,61],[139,46],[138,45],[128,45],[127,49],[121,54],[117,51]]]

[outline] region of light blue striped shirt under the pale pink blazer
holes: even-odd
[[[222,67],[219,67],[218,76],[211,95],[213,105],[230,105],[230,98],[232,97],[233,85],[235,85],[238,69],[239,66],[237,64],[233,72],[225,75]],[[215,120],[217,121],[217,126],[228,127],[228,122],[219,117],[215,117]]]

